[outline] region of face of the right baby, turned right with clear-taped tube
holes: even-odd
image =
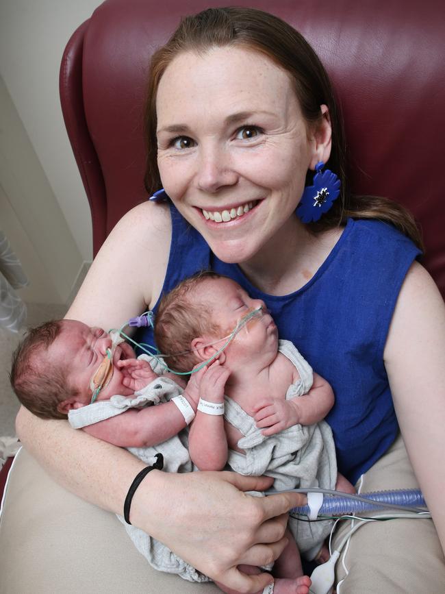
[[[229,336],[246,314],[262,307],[262,315],[248,321],[225,349],[231,363],[241,364],[260,354],[271,360],[275,358],[278,351],[278,331],[264,301],[252,299],[238,283],[227,278],[205,280],[197,293],[196,299],[209,308],[212,321],[218,323],[222,329],[221,336],[214,338]],[[215,346],[219,349],[223,344],[221,341]]]

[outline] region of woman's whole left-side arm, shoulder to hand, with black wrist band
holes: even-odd
[[[150,203],[131,210],[98,254],[68,317],[107,330],[152,307],[162,290],[170,248],[168,208]],[[122,513],[128,488],[145,465],[129,452],[21,409],[17,433],[49,474],[69,491]],[[131,504],[131,522],[218,582],[255,592],[266,573],[244,576],[237,565],[265,565],[285,546],[285,512],[303,504],[296,493],[249,497],[267,478],[234,473],[183,475],[153,471]],[[179,504],[180,503],[180,504]],[[229,546],[227,546],[229,543]]]

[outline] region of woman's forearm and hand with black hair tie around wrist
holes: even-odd
[[[43,421],[23,407],[17,432],[58,483],[88,502],[123,513],[129,486],[144,462],[71,429],[66,421]],[[304,504],[298,493],[242,493],[264,491],[271,483],[267,477],[227,472],[152,471],[133,497],[130,520],[212,579],[237,591],[256,592],[270,582],[270,574],[245,576],[237,566],[276,559],[287,542],[285,512]]]

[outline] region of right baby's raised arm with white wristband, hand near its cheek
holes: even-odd
[[[229,371],[218,361],[200,378],[199,397],[214,404],[224,403],[224,388]],[[190,458],[199,470],[223,470],[227,462],[227,436],[223,414],[207,414],[196,410],[188,437]]]

